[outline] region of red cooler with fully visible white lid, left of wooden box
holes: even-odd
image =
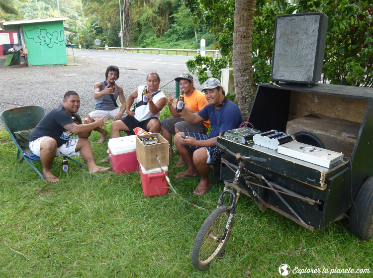
[[[112,138],[107,143],[111,168],[115,173],[131,173],[138,168],[136,135]]]

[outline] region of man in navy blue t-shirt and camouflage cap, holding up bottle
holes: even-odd
[[[175,136],[175,145],[180,156],[187,164],[187,170],[176,175],[177,179],[201,176],[199,184],[194,189],[194,195],[205,194],[211,186],[208,179],[209,164],[220,163],[220,153],[214,147],[217,136],[223,131],[239,127],[242,113],[238,106],[225,97],[225,92],[219,80],[209,78],[203,86],[208,104],[196,113],[183,109],[182,116],[189,123],[210,120],[212,131],[210,135],[193,132],[179,132]],[[185,137],[185,138],[183,138]]]

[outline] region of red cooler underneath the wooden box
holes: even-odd
[[[145,170],[140,162],[139,165],[141,185],[145,196],[151,197],[167,194],[169,191],[169,187],[161,168]],[[168,177],[168,167],[164,166],[162,167],[162,169],[163,171],[165,171],[166,176]]]

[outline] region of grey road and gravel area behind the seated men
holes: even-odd
[[[72,55],[72,49],[68,49]],[[82,105],[79,113],[86,115],[94,109],[93,84],[105,79],[105,70],[116,65],[120,70],[118,84],[126,97],[138,86],[144,85],[150,72],[161,77],[160,88],[175,94],[174,79],[187,72],[185,65],[193,57],[126,52],[108,52],[74,49],[76,65],[4,67],[5,58],[0,57],[0,112],[18,105],[40,105],[47,111],[61,103],[63,94],[69,90],[79,93]],[[72,57],[69,62],[73,61]],[[200,89],[194,76],[194,85]]]

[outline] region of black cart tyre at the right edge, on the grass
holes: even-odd
[[[363,184],[354,202],[350,212],[350,231],[367,240],[373,235],[373,177]]]

